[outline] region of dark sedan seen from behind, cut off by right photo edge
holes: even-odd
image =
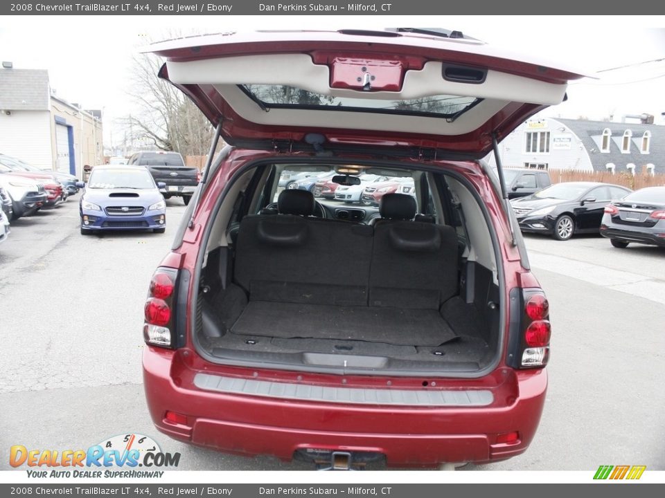
[[[665,187],[647,187],[605,207],[601,235],[612,246],[637,242],[665,247]]]

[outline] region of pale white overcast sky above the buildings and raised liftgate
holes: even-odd
[[[665,124],[665,17],[532,16],[209,16],[5,17],[0,59],[15,68],[48,69],[51,88],[85,109],[103,109],[105,142],[117,118],[132,112],[127,97],[132,54],[148,39],[179,33],[255,29],[441,27],[462,30],[492,46],[598,73],[598,80],[571,84],[568,102],[548,116],[602,120],[650,113]],[[660,60],[658,60],[660,59]],[[106,144],[107,145],[107,144]]]

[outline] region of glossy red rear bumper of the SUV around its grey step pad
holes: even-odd
[[[504,460],[529,447],[547,390],[544,370],[503,369],[497,375],[506,381],[495,386],[493,403],[484,407],[278,399],[198,389],[192,382],[196,371],[182,353],[143,350],[145,395],[157,429],[222,452],[285,461],[307,449],[380,453],[388,465],[405,467]],[[252,371],[248,374],[251,378]],[[167,411],[186,415],[186,425],[165,421]],[[497,434],[515,431],[515,443],[497,443]]]

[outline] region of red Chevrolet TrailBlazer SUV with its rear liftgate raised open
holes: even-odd
[[[150,283],[157,428],[335,468],[524,452],[547,389],[549,308],[503,178],[480,158],[581,76],[459,33],[211,35],[151,50],[216,127],[213,144],[229,144],[211,147]],[[349,207],[282,190],[285,171],[410,178],[415,195]]]

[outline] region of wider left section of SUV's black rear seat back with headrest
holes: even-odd
[[[242,219],[236,283],[253,301],[366,306],[372,228],[308,217],[304,194],[282,192],[286,214]]]

